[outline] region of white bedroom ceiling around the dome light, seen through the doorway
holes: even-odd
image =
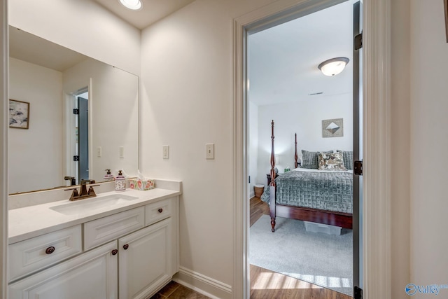
[[[249,36],[249,101],[267,105],[352,92],[353,2]],[[318,64],[341,56],[350,59],[341,74],[319,71]],[[310,95],[317,92],[323,94]]]

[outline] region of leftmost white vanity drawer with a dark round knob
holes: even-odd
[[[83,251],[81,225],[10,244],[9,280],[36,272]]]

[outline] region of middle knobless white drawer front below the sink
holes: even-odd
[[[145,207],[84,223],[84,250],[117,239],[145,226]]]

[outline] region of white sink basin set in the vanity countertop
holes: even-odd
[[[69,202],[68,204],[50,207],[50,209],[64,215],[76,215],[81,213],[91,213],[92,211],[97,211],[117,204],[123,204],[125,202],[130,202],[130,200],[137,200],[138,198],[139,197],[124,194],[112,194]]]

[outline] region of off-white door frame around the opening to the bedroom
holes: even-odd
[[[279,0],[233,22],[233,298],[249,298],[246,33],[331,0]],[[342,1],[339,1],[342,2]],[[363,298],[391,298],[390,0],[363,1]]]

